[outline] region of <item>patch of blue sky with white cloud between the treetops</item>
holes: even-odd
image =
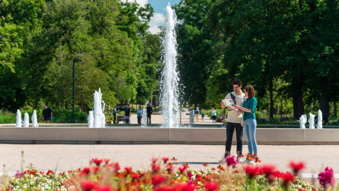
[[[151,18],[149,31],[151,34],[157,34],[160,32],[158,27],[163,26],[165,20],[165,11],[163,9],[166,8],[168,3],[173,6],[178,4],[180,0],[136,0],[136,2],[141,6],[149,3],[153,7],[154,16]]]

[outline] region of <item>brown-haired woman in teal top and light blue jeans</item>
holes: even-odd
[[[245,100],[243,107],[234,105],[236,109],[241,109],[244,111],[244,131],[247,138],[248,151],[251,156],[257,156],[258,154],[258,146],[255,140],[255,129],[257,126],[257,121],[255,118],[255,108],[257,107],[257,99],[254,97],[255,92],[253,86],[249,85],[245,87],[245,96],[247,99]],[[250,161],[251,163],[255,163],[255,159]]]

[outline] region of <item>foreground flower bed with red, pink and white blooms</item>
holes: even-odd
[[[117,162],[109,159],[92,159],[90,166],[76,171],[47,173],[27,170],[17,172],[0,190],[154,190],[154,191],[213,191],[213,190],[319,190],[305,183],[297,175],[303,163],[291,162],[293,174],[282,173],[273,165],[240,165],[235,157],[227,157],[225,164],[208,170],[190,170],[183,164],[177,170],[176,158],[152,159],[149,171],[120,169]],[[258,159],[257,159],[258,161]],[[207,166],[208,164],[203,164]],[[324,189],[334,189],[332,169],[319,174]]]

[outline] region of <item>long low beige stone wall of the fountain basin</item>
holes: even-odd
[[[339,129],[260,129],[259,145],[339,145]],[[224,145],[226,128],[10,128],[3,144],[197,144]],[[235,132],[233,143],[236,143]],[[247,144],[244,134],[243,144]]]

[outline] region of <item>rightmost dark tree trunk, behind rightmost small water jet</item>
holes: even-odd
[[[329,82],[326,78],[323,78],[320,86],[321,94],[319,99],[319,109],[323,113],[323,120],[325,123],[330,121],[330,102],[329,102]]]

